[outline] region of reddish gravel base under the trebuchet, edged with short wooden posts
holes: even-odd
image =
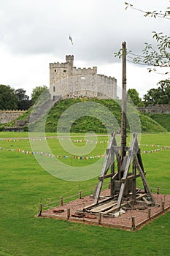
[[[109,189],[102,191],[101,195],[109,195]],[[121,228],[125,230],[135,230],[139,229],[143,225],[152,221],[152,219],[155,217],[158,217],[170,209],[170,195],[152,195],[155,199],[155,206],[147,206],[145,203],[134,203],[131,204],[131,207],[125,208],[124,214],[118,214],[118,217],[104,217],[101,215],[100,219],[98,214],[90,213],[85,213],[84,216],[78,217],[77,210],[85,208],[85,206],[89,206],[93,203],[93,198],[89,195],[82,197],[81,199],[64,203],[63,206],[56,206],[46,211],[42,211],[41,216],[54,219],[68,219],[67,209],[69,208],[70,222],[83,222],[90,225],[101,225],[106,227]],[[164,202],[164,211],[162,202]],[[77,217],[75,217],[75,214]]]

